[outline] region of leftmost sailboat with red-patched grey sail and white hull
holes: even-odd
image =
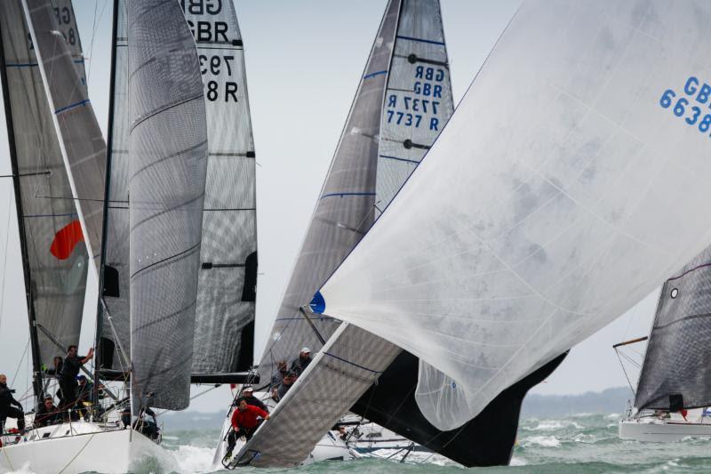
[[[13,0],[0,4],[0,11],[0,76],[38,404],[56,390],[45,367],[52,367],[52,358],[69,344],[78,343],[86,275],[95,269],[87,249],[92,244],[100,249],[96,222],[101,220],[104,145],[86,95],[71,3]],[[71,176],[82,184],[76,186]],[[82,207],[77,196],[92,200]],[[84,231],[87,226],[90,231]],[[84,420],[30,428],[19,435],[3,439],[0,469],[17,470],[29,463],[38,471],[124,471],[129,451],[145,454],[156,446],[132,430],[119,430],[116,423]],[[77,456],[87,446],[87,454]]]

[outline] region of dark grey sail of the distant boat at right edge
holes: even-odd
[[[659,294],[635,407],[678,411],[711,406],[711,247]]]

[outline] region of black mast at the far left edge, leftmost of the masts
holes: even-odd
[[[42,359],[39,355],[39,338],[37,337],[35,303],[32,301],[32,278],[29,273],[28,246],[23,222],[22,199],[20,197],[20,172],[17,163],[17,149],[15,149],[14,125],[12,124],[12,107],[10,105],[10,90],[7,83],[5,68],[5,53],[3,45],[2,25],[0,24],[0,82],[3,83],[3,101],[5,108],[5,122],[7,123],[7,143],[10,149],[10,163],[12,165],[12,189],[15,196],[17,210],[18,232],[20,233],[20,254],[22,255],[22,276],[25,279],[25,297],[28,301],[29,318],[29,343],[32,350],[32,389],[36,400],[42,398]]]

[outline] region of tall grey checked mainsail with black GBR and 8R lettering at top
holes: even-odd
[[[232,2],[183,9],[196,39],[209,139],[193,374],[224,374],[249,369],[254,348],[256,165],[243,41]]]

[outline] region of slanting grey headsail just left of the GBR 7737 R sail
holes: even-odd
[[[300,308],[311,301],[324,280],[370,228],[374,218],[380,116],[399,6],[398,1],[390,1],[380,23],[260,362],[263,381],[269,380],[278,361],[289,362],[299,354],[301,347],[315,350],[323,345],[311,324],[324,340],[340,325],[321,316],[312,317],[309,324]]]

